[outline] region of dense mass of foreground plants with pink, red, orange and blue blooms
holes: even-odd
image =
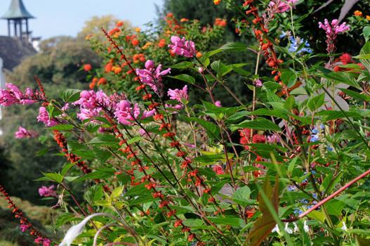
[[[102,30],[106,42],[88,37],[103,60],[84,65],[90,90],[67,89],[57,101],[37,77],[38,89],[1,89],[4,107],[40,105],[37,121],[67,162],[39,179],[50,181],[39,193],[57,201],[62,239],[37,231],[0,186],[37,245],[370,245],[369,21],[355,13],[364,19],[357,56],[336,49],[355,27],[318,22],[319,54],[298,36],[296,0],[225,4],[240,10],[236,32],[252,46],[207,51],[222,37],[220,18],[201,27],[168,14],[159,32],[118,22]],[[241,51],[254,54],[253,72],[217,59]],[[250,103],[230,89],[231,74]],[[206,96],[190,101],[190,90]],[[37,133],[20,127],[15,136]]]

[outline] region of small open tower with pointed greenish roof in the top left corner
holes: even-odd
[[[22,0],[11,0],[11,6],[9,6],[8,11],[1,18],[8,20],[9,37],[12,36],[11,26],[13,25],[13,36],[18,37],[22,41],[29,41],[31,32],[29,32],[28,28],[28,19],[32,19],[34,16],[27,11]]]

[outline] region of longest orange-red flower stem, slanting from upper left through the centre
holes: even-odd
[[[105,34],[105,36],[107,37],[107,39],[110,41],[110,43],[112,44],[112,46],[114,46],[114,48],[117,50],[117,53],[119,53],[119,55],[121,56],[122,59],[124,59],[126,61],[126,64],[128,65],[128,67],[130,67],[132,73],[136,76],[138,76],[138,74],[136,73],[136,70],[133,68],[133,66],[131,65],[130,61],[126,58],[126,56],[124,55],[124,53],[121,51],[121,48],[119,48],[119,46],[117,45],[117,43],[112,39],[112,37],[110,37],[110,34],[107,33],[107,31],[102,27],[102,30]],[[178,157],[181,157],[183,159],[183,164],[181,165],[181,167],[184,169],[184,171],[187,172],[187,169],[189,168],[190,171],[189,173],[187,173],[187,176],[190,177],[190,178],[194,178],[195,179],[195,186],[200,186],[200,187],[203,187],[204,188],[204,192],[206,193],[209,193],[209,202],[212,202],[216,205],[216,207],[218,207],[218,212],[219,213],[223,213],[224,209],[221,209],[220,206],[218,205],[218,203],[216,202],[216,198],[213,197],[213,195],[211,194],[211,188],[206,186],[206,184],[204,183],[204,180],[203,178],[201,178],[198,174],[198,170],[197,169],[194,169],[191,165],[192,163],[192,160],[190,157],[187,157],[187,153],[182,149],[182,146],[181,144],[179,143],[179,141],[176,140],[175,136],[176,136],[176,133],[174,133],[173,131],[171,131],[171,125],[170,124],[167,124],[165,121],[164,121],[164,116],[163,114],[161,114],[161,112],[159,112],[159,109],[158,109],[158,106],[160,105],[160,103],[156,103],[154,102],[153,98],[152,98],[152,94],[149,93],[147,91],[147,89],[145,88],[145,84],[143,84],[143,82],[140,81],[140,79],[136,78],[136,81],[138,81],[138,83],[140,84],[140,86],[137,87],[137,91],[140,91],[140,90],[143,90],[145,95],[143,96],[143,100],[145,101],[150,101],[150,105],[149,105],[149,110],[154,110],[155,111],[155,115],[154,115],[154,120],[158,121],[159,124],[161,124],[161,127],[160,129],[164,129],[167,131],[166,134],[164,134],[163,136],[166,137],[166,138],[169,138],[171,140],[171,147],[172,148],[176,148],[176,150],[178,150],[178,153],[176,154]]]

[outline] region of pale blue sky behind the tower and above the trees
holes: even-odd
[[[11,0],[0,0],[0,15],[8,10]],[[154,4],[163,0],[23,0],[36,19],[29,20],[33,37],[47,39],[58,35],[76,36],[84,22],[94,15],[112,14],[121,20],[130,20],[134,27],[155,20]],[[8,34],[6,20],[0,20],[0,36]]]

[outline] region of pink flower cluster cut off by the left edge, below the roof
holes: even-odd
[[[35,103],[36,96],[32,89],[27,88],[25,93],[14,84],[6,84],[6,89],[0,89],[0,105],[10,106],[14,104],[32,104]]]

